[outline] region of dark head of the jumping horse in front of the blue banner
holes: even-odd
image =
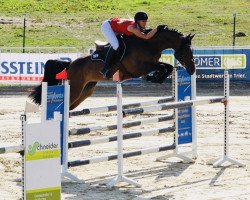
[[[194,35],[190,34],[186,37],[183,37],[180,47],[176,49],[174,53],[175,58],[181,63],[183,67],[186,68],[190,75],[193,75],[195,72],[194,57],[191,48],[193,37]]]

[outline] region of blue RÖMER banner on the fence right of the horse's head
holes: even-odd
[[[197,80],[223,80],[223,69],[230,69],[231,80],[250,81],[250,48],[205,48],[194,50]],[[209,68],[199,70],[199,67]],[[221,68],[221,69],[212,69]]]

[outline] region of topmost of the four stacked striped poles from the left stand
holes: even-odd
[[[148,105],[154,105],[154,104],[162,104],[162,103],[170,102],[173,100],[174,100],[173,97],[167,97],[167,98],[162,98],[162,99],[157,99],[157,100],[145,101],[141,103],[126,104],[126,105],[123,105],[122,108],[128,109],[128,108],[136,108],[136,107],[142,107],[142,106],[148,106]],[[111,111],[116,111],[116,110],[117,110],[117,105],[95,107],[95,108],[83,109],[79,111],[71,111],[69,113],[69,117],[79,116],[79,115],[89,115],[89,114],[102,113],[102,112],[111,112]]]

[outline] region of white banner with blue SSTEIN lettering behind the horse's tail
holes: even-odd
[[[79,53],[0,53],[0,83],[37,84],[49,59],[73,61]]]

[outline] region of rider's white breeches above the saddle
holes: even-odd
[[[114,50],[117,50],[119,47],[119,42],[116,37],[115,32],[112,30],[109,20],[106,20],[102,23],[101,31],[108,42],[111,44]]]

